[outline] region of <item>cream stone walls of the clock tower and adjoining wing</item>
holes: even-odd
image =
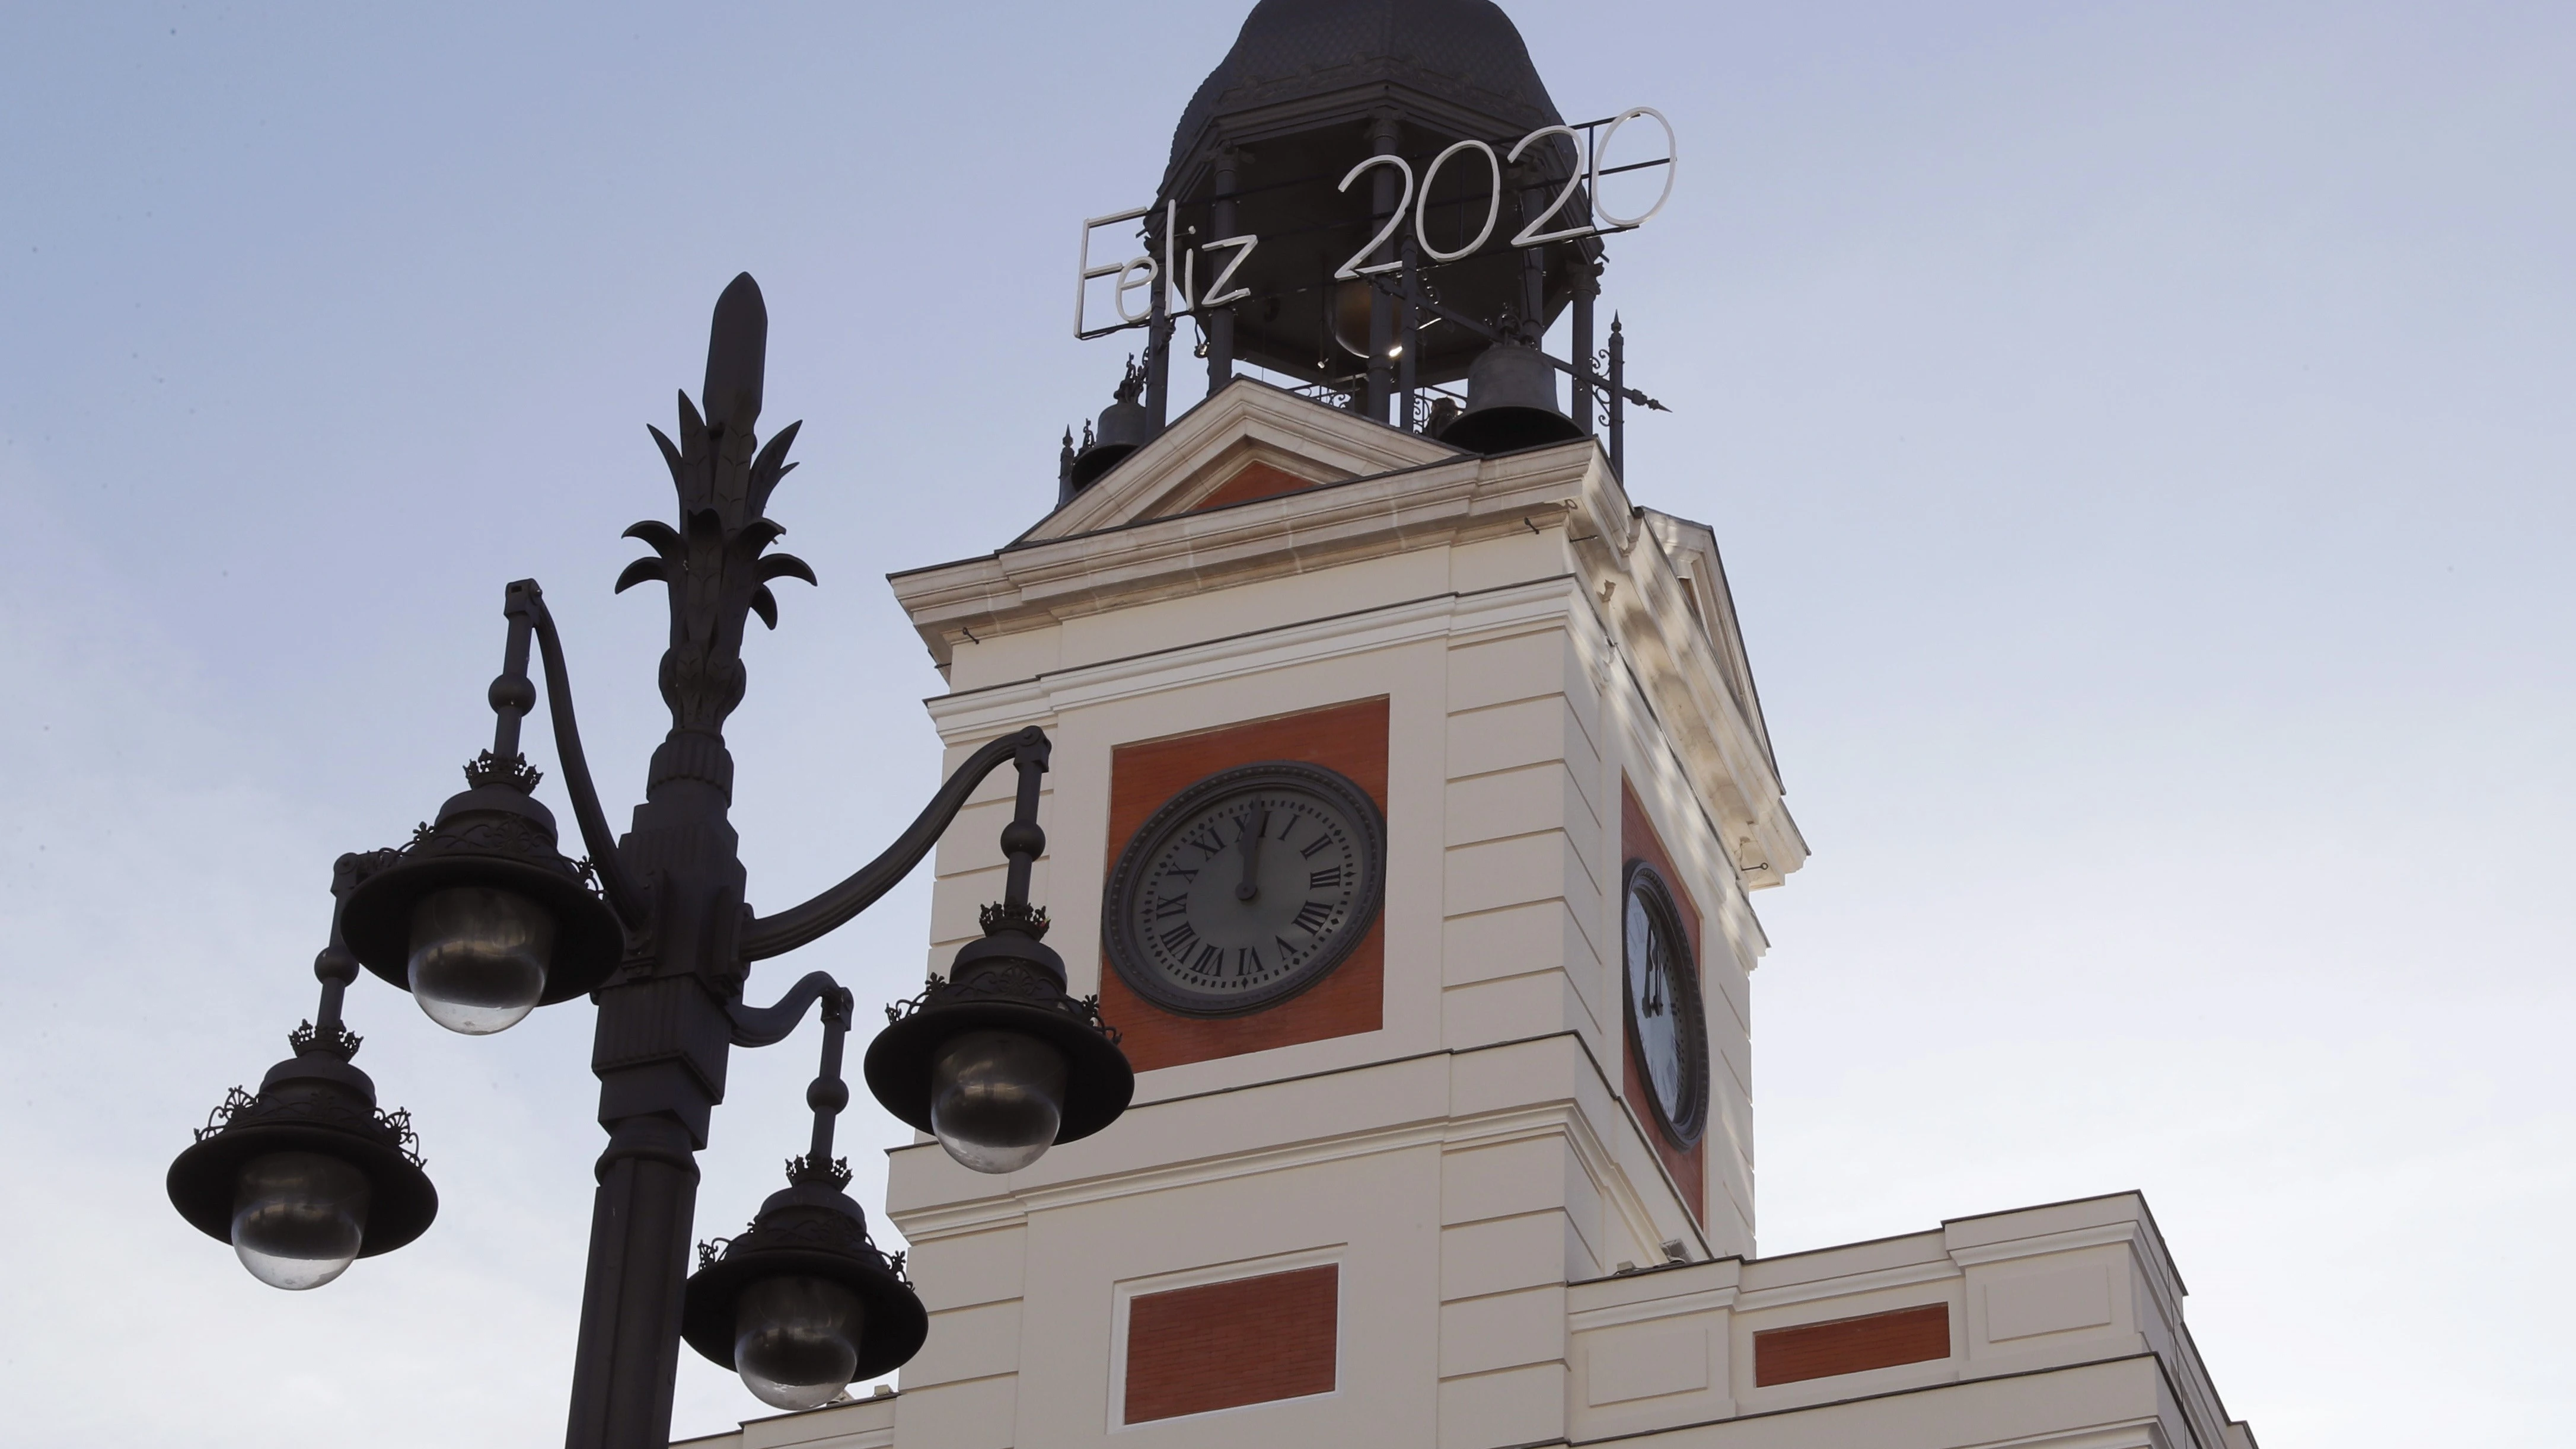
[[[1319,486],[1190,512],[1249,461]],[[2136,1197],[1754,1256],[1749,891],[1806,844],[1713,535],[1633,507],[1589,440],[1473,458],[1244,381],[1010,548],[894,587],[951,762],[1056,741],[1033,898],[1074,993],[1113,746],[1386,697],[1383,1024],[1146,1071],[1023,1174],[899,1148],[886,1212],[933,1315],[902,1392],[693,1444],[2251,1446]],[[1623,788],[1703,921],[1692,1184],[1623,1102]],[[933,970],[999,896],[1007,808],[997,780],[940,847]],[[1311,1264],[1340,1266],[1332,1392],[1128,1423],[1136,1295]],[[1754,1333],[1935,1302],[1940,1359],[1754,1382]]]

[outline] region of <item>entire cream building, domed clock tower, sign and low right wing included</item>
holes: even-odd
[[[1056,507],[891,579],[951,767],[1054,739],[1030,896],[1133,1104],[1005,1176],[896,1148],[902,1392],[708,1449],[2251,1449],[2136,1194],[1754,1256],[1752,901],[1806,842],[1592,345],[1646,116],[1566,126],[1489,0],[1252,10],[1108,219],[1144,255],[1084,252],[1144,360]],[[938,852],[933,973],[1010,811]]]

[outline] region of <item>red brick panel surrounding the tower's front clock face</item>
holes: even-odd
[[[1378,811],[1386,811],[1386,695],[1121,744],[1110,752],[1110,867],[1115,870],[1118,852],[1164,800],[1218,770],[1255,759],[1298,759],[1340,770],[1368,790]],[[1267,1011],[1247,1017],[1164,1011],[1128,991],[1118,970],[1103,963],[1100,1014],[1123,1032],[1118,1045],[1136,1071],[1376,1032],[1386,1022],[1386,909],[1378,909],[1378,921],[1350,947],[1342,965]]]

